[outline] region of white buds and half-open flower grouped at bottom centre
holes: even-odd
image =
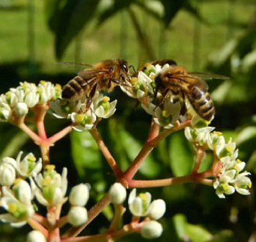
[[[114,183],[109,190],[111,203],[119,205],[124,203],[127,197],[127,191],[121,183]],[[148,218],[145,223],[142,223],[140,233],[144,238],[157,238],[163,233],[163,226],[156,220],[163,217],[166,210],[165,201],[162,199],[153,200],[151,202],[151,194],[149,192],[140,193],[136,196],[134,188],[128,198],[129,211],[134,217]]]

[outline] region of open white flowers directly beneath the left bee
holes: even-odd
[[[73,124],[76,131],[89,130],[93,127],[98,118],[109,118],[116,111],[117,101],[110,102],[108,96],[96,92],[91,107],[86,111],[86,98],[78,100],[58,99],[50,102],[48,110],[56,118],[68,118]]]

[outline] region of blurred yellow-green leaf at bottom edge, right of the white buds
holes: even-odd
[[[191,238],[191,241],[196,242],[206,242],[213,238],[213,235],[201,225],[187,224],[186,234]]]

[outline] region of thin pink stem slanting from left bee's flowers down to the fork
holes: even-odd
[[[91,136],[95,139],[96,143],[99,146],[99,149],[101,149],[102,154],[104,154],[104,157],[106,158],[106,161],[109,163],[109,166],[114,172],[114,175],[116,178],[122,177],[122,169],[119,167],[119,165],[116,163],[114,157],[112,157],[111,153],[109,152],[109,149],[106,147],[106,144],[104,144],[104,141],[101,139],[101,136],[99,135],[99,132],[94,126],[92,129],[89,130]]]

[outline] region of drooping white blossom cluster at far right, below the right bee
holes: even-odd
[[[242,172],[245,162],[237,159],[238,149],[236,149],[236,143],[232,139],[226,142],[220,132],[213,130],[213,127],[202,129],[187,127],[185,135],[191,143],[206,146],[206,148],[214,152],[215,160],[219,162],[219,166],[217,166],[218,174],[214,182],[216,195],[224,198],[225,195],[231,195],[235,191],[242,195],[250,195],[249,189],[252,186],[252,182],[247,177],[250,172]]]

